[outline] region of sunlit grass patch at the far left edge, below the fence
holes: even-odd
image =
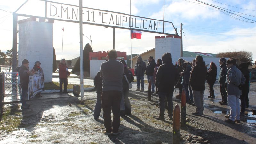
[[[21,125],[21,110],[19,106],[3,107],[3,117],[0,122],[0,131],[12,132]]]

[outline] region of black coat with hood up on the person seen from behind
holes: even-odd
[[[156,72],[155,85],[158,87],[158,92],[172,93],[179,79],[179,73],[177,68],[172,64],[172,59],[166,59],[165,57],[166,55],[162,57],[164,64],[160,65]]]

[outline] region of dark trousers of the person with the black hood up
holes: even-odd
[[[159,97],[159,108],[160,108],[160,115],[164,115],[164,110],[165,110],[165,98],[167,98],[167,104],[168,104],[168,115],[172,116],[173,112],[173,103],[172,103],[172,96],[173,96],[173,91],[171,93],[167,92],[158,92],[158,97]]]

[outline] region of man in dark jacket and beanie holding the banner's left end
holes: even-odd
[[[21,109],[28,109],[30,105],[26,103],[26,94],[28,92],[29,75],[33,75],[34,71],[29,71],[29,63],[27,59],[22,61],[22,66],[19,70],[20,84],[21,84]]]

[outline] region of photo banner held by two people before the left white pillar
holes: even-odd
[[[44,90],[44,75],[37,71],[33,76],[29,76],[28,92],[29,98],[33,98],[37,93]]]

